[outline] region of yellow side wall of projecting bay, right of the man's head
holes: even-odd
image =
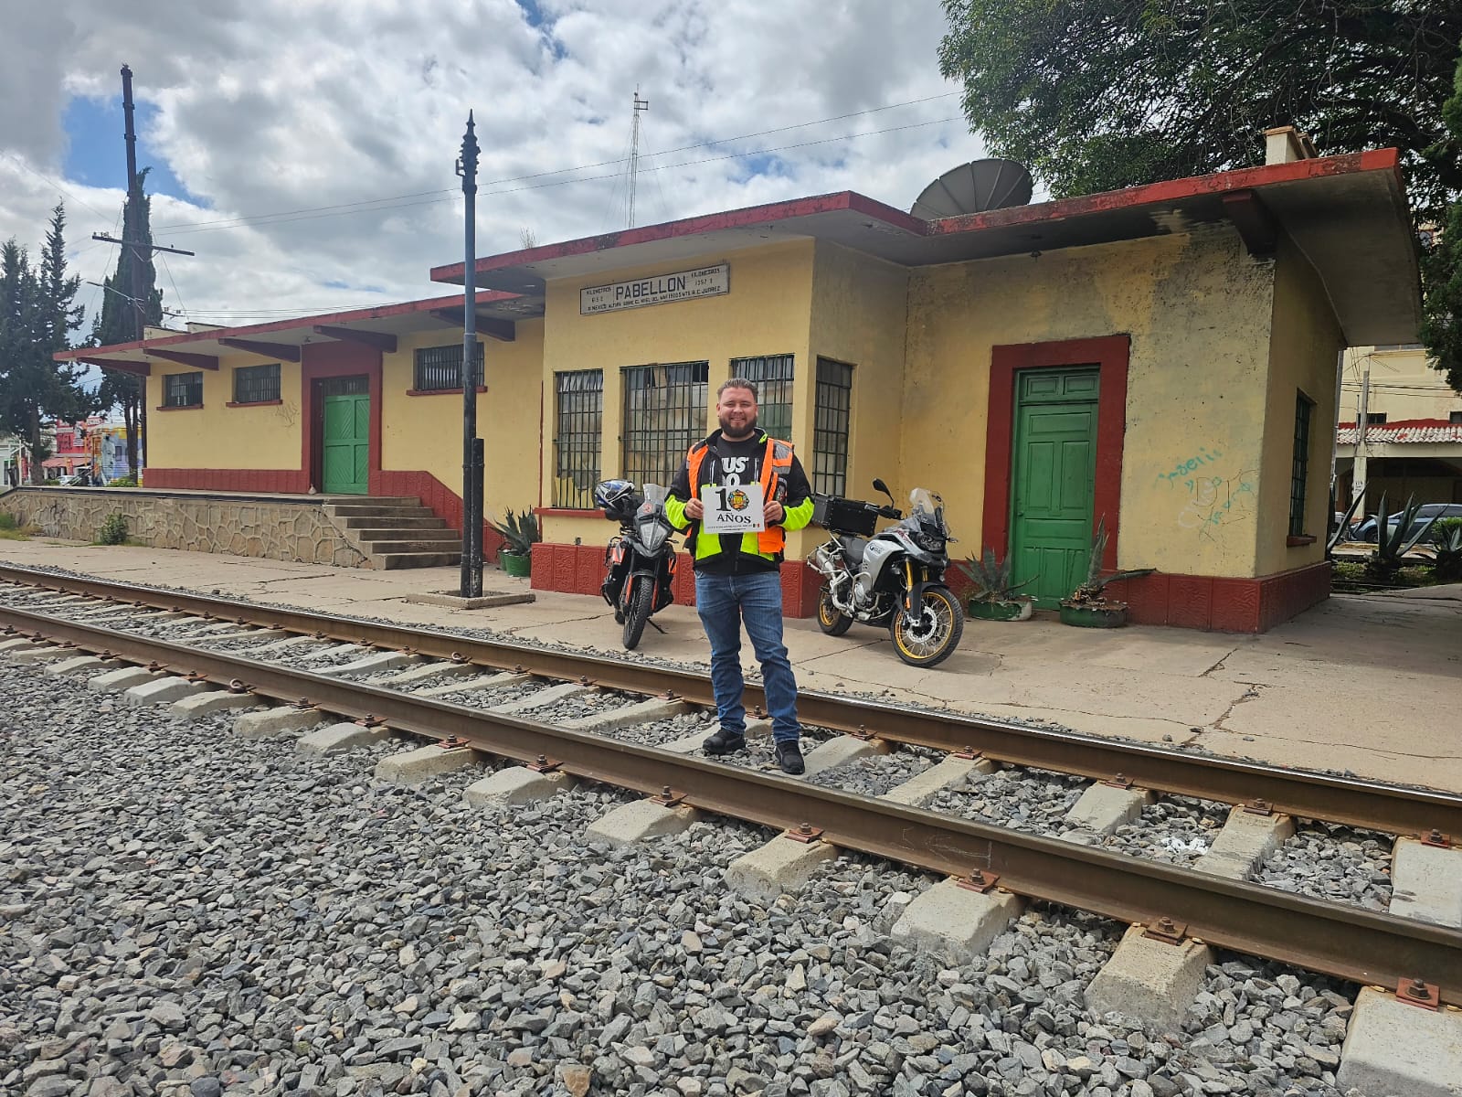
[[[846,494],[854,499],[882,499],[873,490],[874,477],[898,490],[908,287],[909,272],[904,266],[838,244],[817,244],[811,354],[801,373],[806,388],[798,386],[803,464],[810,477],[817,357],[849,363],[854,369]],[[803,541],[816,535],[817,531],[804,534]],[[811,547],[806,544],[803,554]]]

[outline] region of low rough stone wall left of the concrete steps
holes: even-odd
[[[154,548],[262,556],[270,560],[370,568],[320,503],[161,494],[137,489],[20,487],[0,496],[0,512],[48,537],[95,541],[108,515],[127,519],[129,537]]]

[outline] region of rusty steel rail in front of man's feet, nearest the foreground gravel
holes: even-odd
[[[0,607],[0,622],[83,651],[126,651],[133,661],[174,673],[241,682],[259,696],[468,744],[443,749],[551,759],[575,777],[651,794],[668,790],[675,803],[772,828],[808,823],[832,845],[928,872],[993,872],[1001,888],[1025,898],[1127,923],[1154,924],[1168,917],[1211,945],[1357,983],[1396,987],[1421,977],[1440,987],[1443,1002],[1462,1005],[1462,930],[26,610]]]

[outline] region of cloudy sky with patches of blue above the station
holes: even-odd
[[[67,214],[101,281],[126,197],[123,63],[164,307],[243,325],[450,288],[453,165],[482,146],[478,255],[858,190],[908,209],[981,155],[937,0],[0,0],[0,240]],[[96,309],[102,290],[83,285]],[[89,328],[89,319],[88,325]]]

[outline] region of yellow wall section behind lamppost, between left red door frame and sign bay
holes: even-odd
[[[484,440],[482,496],[490,516],[538,505],[538,427],[542,388],[542,320],[519,320],[513,342],[481,338],[487,392],[477,396]],[[431,472],[462,491],[462,393],[408,396],[420,347],[462,344],[461,328],[402,336],[382,361],[383,470]]]

